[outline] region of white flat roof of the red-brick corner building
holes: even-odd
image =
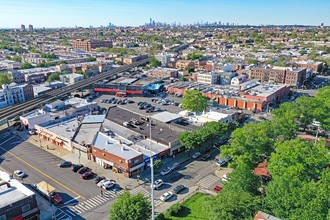
[[[116,139],[111,138],[110,136],[98,132],[96,134],[95,141],[93,146],[107,151],[113,155],[121,157],[125,160],[133,159],[142,153],[135,151],[134,149],[127,146],[124,142],[117,141]]]

